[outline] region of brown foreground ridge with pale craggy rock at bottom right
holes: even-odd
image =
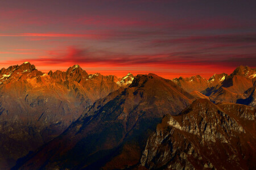
[[[148,169],[255,169],[256,109],[197,99],[167,114],[148,138],[141,166]]]

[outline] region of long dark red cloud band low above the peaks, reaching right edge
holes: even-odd
[[[28,58],[29,59],[29,58]],[[61,63],[101,64],[106,66],[226,66],[250,65],[256,67],[256,53],[238,54],[209,54],[207,58],[201,53],[175,52],[159,53],[152,55],[127,55],[112,52],[95,52],[91,49],[80,49],[76,46],[68,46],[64,50],[50,50],[46,56],[29,59],[31,62],[41,65],[54,65]]]

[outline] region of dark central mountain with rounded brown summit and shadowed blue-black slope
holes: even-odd
[[[175,115],[194,100],[171,80],[135,76],[96,101],[59,137],[16,166],[20,169],[121,169],[138,164],[146,140],[166,113]]]

